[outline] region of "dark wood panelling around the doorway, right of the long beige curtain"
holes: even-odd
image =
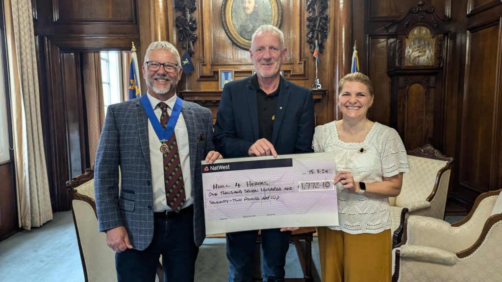
[[[69,209],[66,181],[93,163],[84,53],[130,50],[140,39],[138,6],[134,0],[32,0],[32,7],[51,203],[62,211]]]

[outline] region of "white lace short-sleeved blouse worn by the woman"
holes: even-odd
[[[362,143],[338,139],[335,121],[315,128],[314,152],[335,152],[337,171],[352,173],[354,181],[383,181],[383,177],[408,172],[406,150],[398,132],[375,122]],[[363,149],[363,153],[360,150]],[[380,233],[391,228],[389,199],[357,195],[337,185],[339,226],[329,226],[350,234]]]

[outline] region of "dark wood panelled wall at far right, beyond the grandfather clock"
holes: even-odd
[[[455,196],[470,204],[502,188],[502,2],[468,1],[465,37]]]

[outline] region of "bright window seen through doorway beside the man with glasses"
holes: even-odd
[[[103,85],[104,112],[109,105],[121,102],[120,52],[101,51],[101,81]]]

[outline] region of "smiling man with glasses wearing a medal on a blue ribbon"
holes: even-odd
[[[200,164],[221,155],[211,111],[176,95],[180,65],[171,43],[153,42],[143,65],[147,93],[108,106],[94,187],[118,281],[154,281],[161,254],[164,281],[194,280],[205,236]]]

